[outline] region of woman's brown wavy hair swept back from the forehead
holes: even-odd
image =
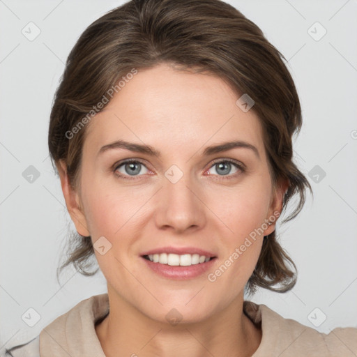
[[[294,164],[292,136],[301,129],[301,105],[284,56],[257,25],[220,0],[132,0],[93,22],[71,50],[52,106],[48,145],[52,165],[66,162],[70,184],[77,188],[86,126],[69,139],[66,133],[107,96],[132,68],[170,63],[182,70],[208,72],[224,79],[238,95],[247,93],[264,129],[264,145],[274,187],[287,180],[283,210],[291,197],[298,204],[283,221],[294,218],[310,184]],[[286,59],[284,59],[286,61]],[[238,98],[238,97],[237,97]],[[83,123],[83,121],[82,121]],[[68,259],[83,275],[93,261],[90,237],[70,237]],[[288,291],[296,266],[277,241],[264,237],[261,254],[246,289]],[[57,271],[58,278],[58,271]],[[276,287],[280,284],[280,287]]]

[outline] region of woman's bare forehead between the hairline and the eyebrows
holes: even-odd
[[[238,94],[217,75],[162,64],[138,70],[91,119],[84,146],[117,139],[183,150],[205,142],[244,140],[263,149],[259,118],[236,105]]]

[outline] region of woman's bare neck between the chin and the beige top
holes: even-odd
[[[108,295],[110,312],[96,326],[107,357],[248,357],[261,342],[260,328],[243,313],[243,294],[217,314],[175,326],[150,319],[126,301]]]

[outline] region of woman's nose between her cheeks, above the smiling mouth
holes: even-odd
[[[177,234],[202,229],[206,223],[206,206],[202,189],[189,174],[183,174],[176,183],[163,178],[156,197],[155,223],[159,229]]]

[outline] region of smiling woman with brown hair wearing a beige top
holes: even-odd
[[[9,351],[33,356],[354,356],[265,305],[294,262],[275,237],[311,189],[292,161],[301,106],[282,55],[218,0],[128,1],[70,52],[49,130],[92,296]],[[222,171],[222,172],[220,172]]]

